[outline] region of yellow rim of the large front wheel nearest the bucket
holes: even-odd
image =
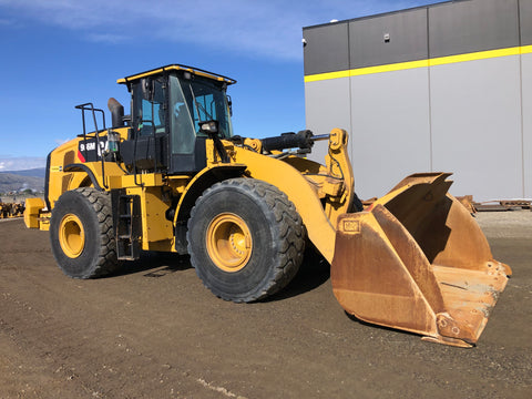
[[[216,216],[208,225],[206,239],[211,259],[224,272],[241,270],[252,256],[249,227],[235,214],[224,213]]]

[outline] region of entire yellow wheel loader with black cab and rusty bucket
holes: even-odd
[[[477,342],[511,269],[448,193],[450,174],[413,174],[364,208],[346,131],[234,135],[226,91],[236,81],[197,68],[117,83],[131,114],[110,99],[108,126],[103,110],[78,105],[83,132],[50,153],[44,201],[25,204],[25,225],[49,231],[65,275],[101,277],[146,250],[190,254],[214,295],[250,303],[283,289],[311,245],[348,314]],[[306,157],[320,140],[324,164]]]

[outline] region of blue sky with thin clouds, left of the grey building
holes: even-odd
[[[305,127],[301,28],[436,0],[0,0],[0,171],[44,166],[74,105],[129,112],[116,79],[182,63],[234,78],[235,134]]]

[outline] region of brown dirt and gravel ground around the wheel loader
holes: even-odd
[[[0,398],[531,398],[532,212],[479,214],[510,279],[472,349],[361,324],[308,260],[277,297],[235,305],[187,257],[65,277],[44,232],[0,223]]]

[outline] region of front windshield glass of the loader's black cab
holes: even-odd
[[[233,136],[227,96],[221,84],[202,76],[187,80],[172,75],[170,82],[173,153],[188,153],[194,137],[205,136],[200,122],[218,121],[219,136]]]

